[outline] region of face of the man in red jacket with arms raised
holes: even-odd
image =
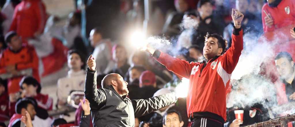
[[[218,40],[210,37],[205,40],[205,46],[203,48],[203,55],[206,59],[213,58],[222,53],[222,48],[218,48]]]

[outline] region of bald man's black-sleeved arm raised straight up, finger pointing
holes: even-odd
[[[85,98],[89,100],[92,109],[98,109],[106,101],[106,94],[103,90],[97,89],[96,85],[96,63],[92,55],[87,60],[88,68],[85,81]]]

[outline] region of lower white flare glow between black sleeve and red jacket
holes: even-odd
[[[189,92],[189,79],[182,78],[181,83],[175,89],[177,97],[186,97]]]

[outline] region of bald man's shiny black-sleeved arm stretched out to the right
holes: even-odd
[[[140,117],[151,113],[153,111],[164,108],[168,105],[171,105],[177,101],[175,93],[169,93],[165,95],[160,95],[156,97],[151,97],[149,99],[139,99],[131,100],[135,117]]]

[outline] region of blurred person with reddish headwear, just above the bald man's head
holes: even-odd
[[[117,73],[125,77],[130,65],[128,64],[127,51],[123,45],[116,44],[112,48],[113,60],[115,62],[115,68],[109,73]],[[109,74],[108,73],[108,74]]]

